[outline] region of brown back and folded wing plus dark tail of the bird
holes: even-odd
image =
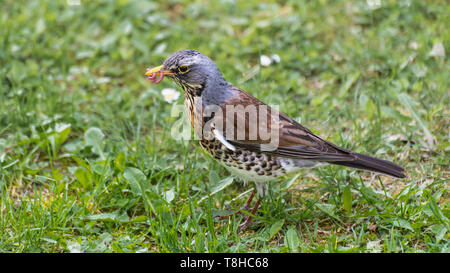
[[[401,166],[387,160],[358,154],[323,140],[295,120],[270,108],[241,89],[234,86],[230,88],[232,89],[230,93],[233,96],[226,100],[228,106],[241,105],[242,108],[255,106],[258,112],[258,118],[252,119],[250,113],[247,111],[234,111],[233,115],[228,115],[226,105],[221,106],[222,111],[226,113],[226,118],[224,118],[222,123],[224,126],[222,131],[223,136],[225,136],[225,141],[231,145],[280,157],[325,161],[342,166],[384,173],[394,177],[405,177],[404,169]],[[267,111],[265,114],[264,112],[261,114],[261,106],[266,107]],[[260,118],[264,116],[266,116],[265,119]],[[277,132],[275,137],[278,136],[278,145],[275,149],[267,150],[267,147],[264,146],[270,142],[270,139],[266,139],[259,134],[261,127],[275,129]],[[258,128],[256,135],[254,134],[255,128]],[[239,132],[241,132],[240,137],[238,135]]]

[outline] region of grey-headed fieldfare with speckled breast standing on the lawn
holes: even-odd
[[[326,141],[227,82],[216,64],[198,51],[175,52],[145,75],[155,83],[165,76],[174,80],[184,91],[187,115],[200,145],[233,174],[255,182],[242,209],[249,206],[255,192],[264,195],[267,181],[307,167],[337,164],[405,177],[399,165]],[[247,215],[240,229],[250,221]]]

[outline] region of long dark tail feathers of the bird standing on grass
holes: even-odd
[[[368,170],[372,172],[383,173],[398,178],[405,177],[405,170],[395,163],[383,159],[370,157],[363,154],[352,153],[352,155],[355,156],[355,160],[335,161],[330,163],[362,170]]]

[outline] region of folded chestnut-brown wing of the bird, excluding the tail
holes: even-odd
[[[234,115],[225,114],[223,131],[225,138],[231,144],[250,151],[263,151],[264,153],[297,159],[329,162],[354,159],[350,151],[321,139],[295,120],[270,108],[243,90],[235,86],[231,88],[235,96],[227,100],[227,105],[242,106],[241,109],[247,106],[255,106],[258,113],[255,119],[251,114],[252,107],[248,107],[249,111],[235,111]],[[266,107],[267,115],[262,115],[264,107]],[[225,105],[222,106],[222,109],[224,113],[230,110],[226,109]],[[260,113],[260,111],[263,112]],[[265,116],[267,117],[266,119],[263,118]],[[255,125],[257,133],[255,133]],[[275,129],[275,137],[278,136],[276,149],[267,151],[263,148],[264,146],[262,145],[268,144],[273,139],[267,139],[267,135],[263,137],[260,130],[261,127],[263,128],[262,132]],[[240,136],[239,132],[241,133]],[[245,132],[245,135],[243,132]],[[272,137],[274,136],[272,135]]]

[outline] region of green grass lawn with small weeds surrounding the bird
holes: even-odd
[[[259,2],[2,1],[0,251],[449,252],[450,6]],[[175,86],[143,76],[180,49],[407,178],[305,170],[237,234],[213,216],[251,186],[171,137]]]

